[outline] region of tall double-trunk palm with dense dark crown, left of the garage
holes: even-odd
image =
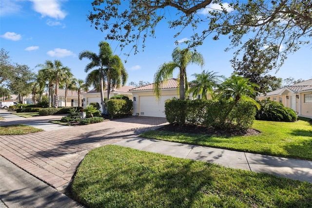
[[[85,72],[90,69],[96,68],[87,76],[86,83],[94,84],[94,86],[100,90],[102,110],[105,112],[104,105],[104,79],[107,79],[107,98],[109,99],[109,93],[111,87],[124,85],[127,81],[128,74],[126,73],[120,58],[117,55],[113,55],[113,51],[107,42],[101,41],[98,44],[98,55],[92,51],[82,51],[79,54],[79,59],[87,58],[91,60],[85,67]]]

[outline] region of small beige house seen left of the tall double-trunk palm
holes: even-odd
[[[80,94],[80,105],[82,105],[83,94]],[[67,98],[65,101],[65,89],[59,89],[59,107],[78,107],[78,92],[76,90],[67,90]]]

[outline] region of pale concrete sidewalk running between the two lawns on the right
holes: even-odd
[[[269,173],[312,183],[312,161],[273,157],[144,138],[123,140],[114,145],[131,147],[179,158],[205,161],[226,167]]]

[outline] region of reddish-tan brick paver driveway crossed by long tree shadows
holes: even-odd
[[[89,150],[134,138],[166,123],[130,117],[33,134],[0,136],[0,155],[52,187],[63,189]]]

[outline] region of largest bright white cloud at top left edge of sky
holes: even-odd
[[[42,17],[48,16],[57,20],[63,20],[66,12],[60,9],[59,0],[30,0],[34,3],[34,10]]]

